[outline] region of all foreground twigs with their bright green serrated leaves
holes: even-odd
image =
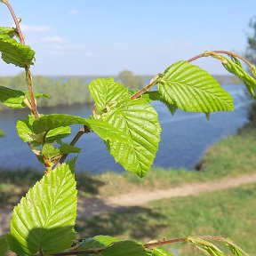
[[[6,0],[1,2],[8,3]],[[12,12],[10,6],[9,10]],[[12,17],[15,17],[13,12]],[[67,164],[63,162],[68,154],[80,152],[75,144],[84,133],[95,132],[104,140],[117,163],[142,178],[154,163],[160,141],[161,126],[152,101],[163,102],[172,115],[180,108],[204,113],[209,119],[212,112],[232,111],[233,99],[204,69],[192,65],[190,61],[180,60],[133,94],[113,78],[92,81],[89,90],[95,104],[92,116],[88,118],[63,114],[40,115],[36,98],[47,95],[33,92],[29,66],[34,64],[35,52],[23,44],[18,21],[15,18],[14,21],[17,28],[0,28],[0,52],[5,63],[25,69],[28,92],[0,86],[0,101],[8,108],[27,106],[31,109],[32,115],[17,122],[17,132],[44,164],[45,173],[42,180],[36,182],[21,198],[20,204],[15,206],[10,232],[0,239],[1,255],[6,254],[10,247],[12,252],[20,256],[99,253],[103,256],[171,256],[170,252],[158,247],[181,242],[195,245],[209,255],[223,256],[224,253],[209,239],[227,244],[233,255],[246,255],[228,239],[214,236],[183,237],[148,244],[110,236],[76,240],[76,158]],[[219,53],[204,52],[202,56],[220,60],[224,68],[244,81],[254,96],[255,67],[249,63],[252,76],[248,75],[236,55],[228,53],[231,56],[229,60]],[[155,91],[149,92],[152,88]],[[68,144],[63,139],[71,134],[72,124],[80,124],[82,128]]]

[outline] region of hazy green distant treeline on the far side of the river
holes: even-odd
[[[54,107],[58,105],[72,105],[92,103],[88,84],[99,76],[34,76],[35,92],[46,93],[50,99],[40,98],[37,104],[40,107]],[[141,88],[153,76],[135,76],[129,70],[124,70],[114,77],[126,87]],[[214,76],[220,84],[241,84],[235,76]],[[0,85],[21,91],[27,91],[25,75],[0,77]],[[4,105],[0,105],[4,109]]]

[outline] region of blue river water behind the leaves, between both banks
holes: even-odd
[[[249,100],[245,95],[244,86],[224,85],[223,87],[232,95],[235,111],[213,113],[210,121],[206,120],[204,114],[188,113],[181,110],[172,116],[162,103],[154,102],[153,105],[159,114],[162,126],[161,141],[154,163],[156,167],[184,167],[192,170],[204,155],[206,148],[223,137],[235,133],[248,121]],[[92,106],[41,108],[40,112],[88,117],[92,114]],[[20,109],[8,109],[0,112],[0,129],[3,129],[6,134],[4,139],[0,139],[0,170],[44,169],[28,146],[20,140],[15,130],[17,120],[25,118],[27,114],[27,111]],[[74,134],[78,129],[79,126],[72,126]],[[123,172],[123,168],[115,163],[112,156],[108,155],[103,141],[96,134],[84,135],[76,146],[83,148],[77,160],[78,172]]]

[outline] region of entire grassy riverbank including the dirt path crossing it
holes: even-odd
[[[81,237],[104,234],[145,242],[173,236],[224,236],[254,255],[255,114],[256,105],[250,124],[208,148],[197,172],[153,169],[143,180],[129,173],[76,174],[76,231]],[[0,172],[1,220],[10,218],[10,211],[3,208],[11,209],[42,175],[29,170],[11,173]],[[147,200],[138,203],[141,195]],[[178,251],[180,256],[201,255],[189,246],[172,247],[172,252]]]

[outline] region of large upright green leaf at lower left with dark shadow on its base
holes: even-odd
[[[50,254],[75,239],[76,181],[67,164],[44,174],[14,207],[9,244],[18,255]]]

